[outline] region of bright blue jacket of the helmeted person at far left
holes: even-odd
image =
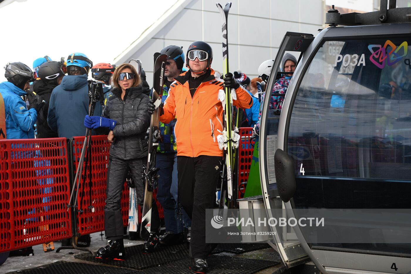
[[[27,109],[20,97],[27,93],[10,82],[0,84],[0,93],[4,100],[7,139],[34,138],[33,125],[37,120],[37,111]]]

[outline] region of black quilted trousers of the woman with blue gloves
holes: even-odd
[[[109,240],[122,239],[124,235],[123,219],[121,214],[121,192],[127,177],[128,170],[131,170],[134,184],[136,186],[137,200],[141,208],[144,202],[145,183],[141,180],[143,163],[147,164],[147,158],[122,160],[110,157],[109,168],[107,170],[106,205],[104,206],[104,230]],[[152,200],[151,209],[151,230],[160,227],[157,204]]]

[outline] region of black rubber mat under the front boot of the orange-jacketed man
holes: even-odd
[[[251,274],[262,269],[277,265],[279,262],[253,260],[230,256],[211,255],[207,258],[207,274]],[[145,274],[186,274],[192,273],[189,270],[190,261],[188,258],[169,262],[166,265],[152,267],[144,271]]]

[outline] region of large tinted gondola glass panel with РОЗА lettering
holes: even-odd
[[[411,208],[410,44],[410,38],[328,41],[316,53],[289,125],[297,208]],[[411,244],[395,248],[411,254]]]

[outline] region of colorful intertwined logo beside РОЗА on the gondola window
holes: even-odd
[[[375,48],[377,49],[376,51],[374,51]],[[369,60],[377,67],[383,69],[386,63],[389,66],[394,65],[407,55],[408,43],[404,41],[399,46],[395,46],[393,42],[387,40],[384,46],[369,45],[368,49],[372,53],[369,56]]]

